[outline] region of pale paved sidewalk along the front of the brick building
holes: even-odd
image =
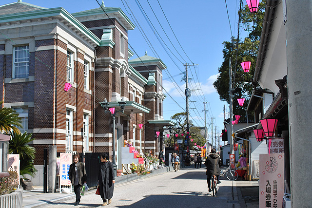
[[[140,178],[145,178],[145,177],[152,177],[157,174],[167,172],[167,171],[173,171],[173,168],[170,168],[167,170],[167,168],[163,169],[157,169],[153,170],[150,174],[146,175],[140,175],[137,176],[137,174],[130,174],[128,177],[125,176],[120,176],[117,177],[116,180],[116,185],[126,183],[129,181],[134,181],[138,180]],[[96,189],[91,188],[87,192],[85,192],[85,195],[95,193]],[[46,204],[54,204],[55,202],[58,201],[65,201],[70,198],[75,198],[76,195],[75,193],[43,193],[43,187],[33,187],[33,190],[23,190],[23,208],[36,208],[36,207],[41,207],[42,205]]]

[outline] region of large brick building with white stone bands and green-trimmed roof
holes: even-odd
[[[162,118],[166,66],[147,55],[141,65],[128,62],[134,25],[120,8],[101,7],[110,18],[100,7],[69,14],[21,0],[0,6],[0,98],[20,113],[21,131],[36,138],[35,165],[42,165],[50,145],[58,152],[112,155],[112,115],[100,105],[105,98],[116,110],[122,98],[127,102],[116,114],[117,168],[124,140],[157,154],[162,134],[155,132],[174,124]],[[72,84],[67,92],[65,83]]]

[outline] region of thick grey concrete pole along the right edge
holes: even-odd
[[[286,52],[292,207],[309,206],[312,114],[312,1],[287,0]]]

